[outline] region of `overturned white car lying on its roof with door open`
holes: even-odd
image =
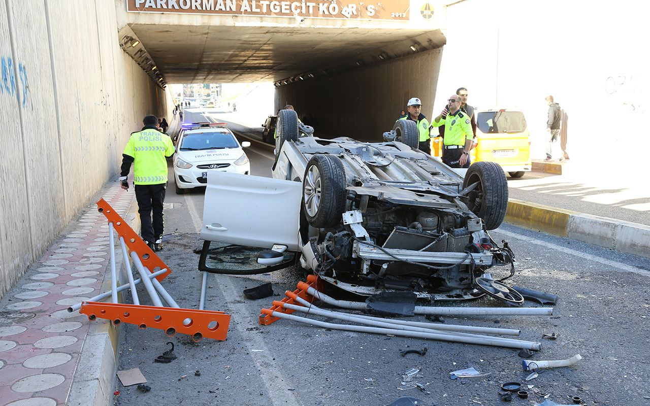
[[[499,227],[508,204],[499,165],[477,162],[463,180],[415,149],[411,121],[398,121],[380,143],[317,138],[292,110],[279,112],[277,128],[272,179],[210,173],[201,270],[269,272],[295,263],[297,253],[303,268],[363,296],[487,293],[523,303],[486,273],[507,265],[502,281],[514,270],[508,244],[487,233]]]

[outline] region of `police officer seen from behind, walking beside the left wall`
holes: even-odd
[[[122,188],[128,190],[127,176],[133,164],[133,184],[140,213],[140,235],[153,251],[159,251],[162,248],[161,237],[164,228],[162,202],[167,188],[165,157],[174,154],[174,144],[167,134],[159,131],[156,116],[145,116],[142,124],[142,130],[131,133],[131,138],[124,147],[120,181]]]

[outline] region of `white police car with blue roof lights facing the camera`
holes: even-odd
[[[208,173],[224,171],[250,175],[250,162],[225,123],[183,124],[174,154],[174,181],[177,194],[185,189],[205,186]]]

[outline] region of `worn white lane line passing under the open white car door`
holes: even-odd
[[[185,203],[187,204],[188,211],[190,212],[190,217],[192,218],[192,223],[196,229],[201,230],[203,228],[203,221],[196,210],[196,205],[194,201],[186,194]],[[203,203],[205,205],[205,201]],[[211,275],[208,274],[208,277]],[[226,275],[224,275],[226,276]],[[216,275],[215,275],[216,277]],[[231,282],[232,279],[227,277],[228,281]],[[218,281],[215,285],[220,290],[222,296],[226,299],[227,303],[235,303],[240,299],[239,290],[234,286],[234,284],[228,283],[228,288],[224,288],[222,283],[223,279]],[[257,310],[255,310],[257,311]],[[250,309],[242,309],[239,306],[230,307],[230,315],[235,320],[248,320],[251,317]],[[233,324],[231,324],[232,326]],[[253,359],[255,364],[257,364],[259,370],[259,376],[262,378],[264,385],[266,386],[266,392],[274,406],[298,406],[300,403],[296,400],[294,394],[289,392],[289,387],[286,385],[286,382],[281,372],[279,372],[279,367],[276,365],[277,362],[273,360],[272,352],[268,349],[265,342],[257,335],[252,335],[250,332],[246,331],[243,323],[234,323],[235,328],[239,331],[239,334],[243,337],[246,337],[247,340],[244,342],[246,349],[250,357]],[[262,349],[263,351],[253,351]],[[271,368],[265,366],[270,365]],[[278,390],[278,387],[283,390]]]

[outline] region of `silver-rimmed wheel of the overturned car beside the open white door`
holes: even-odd
[[[334,155],[314,155],[302,179],[302,205],[312,227],[330,228],[341,222],[345,210],[345,170]]]

